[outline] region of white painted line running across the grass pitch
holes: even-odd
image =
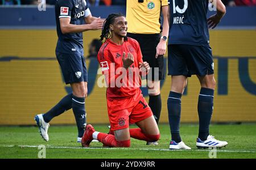
[[[1,146],[1,147],[15,147],[14,145],[7,145],[7,146]],[[32,148],[38,148],[36,145],[18,145],[18,147],[32,147]],[[170,151],[170,152],[178,152],[178,151],[198,151],[198,152],[246,152],[246,153],[255,153],[256,151],[238,151],[238,150],[209,150],[209,149],[202,149],[202,150],[169,150],[169,149],[158,149],[158,148],[124,148],[124,147],[69,147],[69,146],[46,146],[46,148],[67,148],[67,149],[83,149],[83,150],[144,150],[144,151]]]

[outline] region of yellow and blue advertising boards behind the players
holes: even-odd
[[[91,6],[90,10],[101,18],[126,11],[125,6]],[[39,11],[38,5],[0,6],[0,16],[0,125],[35,125],[35,114],[48,111],[71,91],[63,81],[55,57],[54,6],[47,5],[46,11]],[[85,57],[89,43],[99,36],[100,31],[84,32]],[[227,7],[221,24],[210,31],[210,45],[217,80],[212,122],[256,122],[256,7]],[[86,65],[87,120],[108,124],[106,89],[97,86],[101,75],[97,74],[97,59],[87,58]],[[168,122],[166,103],[170,84],[171,79],[166,76],[161,87],[160,123]],[[183,96],[182,122],[198,121],[199,91],[199,82],[193,76]],[[145,89],[143,93],[147,96]],[[73,125],[75,118],[68,111],[54,118],[51,124]]]

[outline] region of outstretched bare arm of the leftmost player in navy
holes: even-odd
[[[63,34],[101,29],[103,25],[103,22],[101,22],[100,18],[94,20],[90,24],[82,25],[71,24],[70,21],[70,18],[60,18],[60,29]]]

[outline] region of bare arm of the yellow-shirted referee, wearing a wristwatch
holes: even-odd
[[[162,6],[163,19],[164,19],[162,36],[166,36],[166,37],[168,37],[169,35],[168,8],[169,8],[168,5]],[[155,54],[156,58],[166,53],[166,42],[167,42],[167,39],[166,40],[160,39],[158,46],[156,46],[156,54]]]

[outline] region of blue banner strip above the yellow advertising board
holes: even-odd
[[[107,18],[109,14],[126,14],[126,6],[91,6],[93,16]],[[216,11],[209,7],[208,17]],[[47,5],[46,10],[38,10],[37,6],[1,6],[0,5],[0,29],[54,29],[55,6]],[[221,19],[216,29],[255,29],[256,7],[238,6],[226,7],[225,17]]]

